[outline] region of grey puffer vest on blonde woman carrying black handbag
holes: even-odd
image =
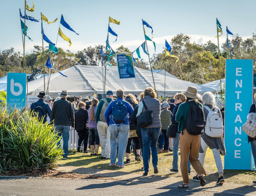
[[[148,108],[148,110],[153,111],[153,123],[144,127],[144,128],[161,128],[161,121],[160,121],[160,101],[159,99],[153,98],[149,95],[144,97],[144,102]],[[140,103],[142,104],[142,102]],[[143,106],[142,113],[145,112],[146,109]]]

